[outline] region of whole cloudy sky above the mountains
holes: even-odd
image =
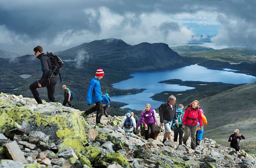
[[[255,0],[1,0],[0,49],[60,51],[105,38],[130,45],[186,44],[214,36],[216,48],[256,48]]]

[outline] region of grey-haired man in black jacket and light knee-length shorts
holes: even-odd
[[[168,102],[163,104],[163,106],[159,111],[160,123],[161,123],[160,125],[161,127],[164,126],[164,129],[165,129],[163,143],[166,141],[167,138],[168,140],[172,139],[172,135],[171,135],[171,125],[173,124],[172,120],[175,119],[176,124],[178,122],[175,102],[176,102],[176,97],[173,95],[169,96]]]

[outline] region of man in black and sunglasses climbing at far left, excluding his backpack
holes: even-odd
[[[34,98],[36,99],[36,102],[38,104],[43,104],[39,93],[37,92],[37,88],[39,87],[47,87],[47,94],[48,94],[48,98],[51,102],[56,102],[55,97],[54,97],[54,93],[55,93],[55,85],[57,83],[57,76],[53,74],[53,76],[51,76],[52,73],[52,69],[51,69],[51,60],[49,59],[49,57],[43,52],[43,48],[41,46],[36,46],[34,48],[34,54],[36,56],[36,58],[40,59],[41,61],[41,70],[43,71],[43,76],[41,77],[40,80],[32,83],[29,88],[34,96]],[[51,78],[50,78],[51,76]]]

